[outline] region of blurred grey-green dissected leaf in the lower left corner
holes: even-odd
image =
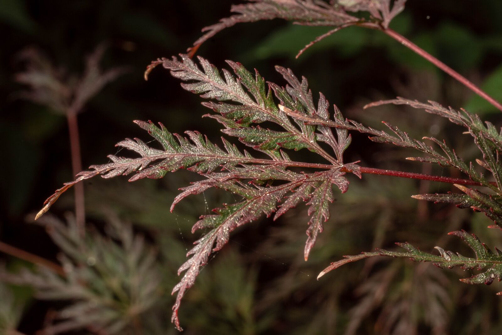
[[[0,277],[17,285],[32,286],[44,300],[69,300],[55,313],[54,324],[44,333],[58,334],[79,329],[122,334],[134,329],[138,317],[147,313],[161,296],[161,277],[153,250],[132,227],[110,217],[109,237],[79,234],[75,220],[68,225],[44,217],[47,231],[61,249],[64,276],[49,268],[23,269],[17,274],[0,272]]]

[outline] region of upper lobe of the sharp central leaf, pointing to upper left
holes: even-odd
[[[275,134],[275,137],[285,137],[284,145],[287,145],[288,148],[294,148],[296,150],[307,148],[313,152],[319,153],[331,163],[336,162],[334,158],[317,144],[316,135],[314,133],[315,127],[306,126],[303,123],[297,122],[297,126],[300,128],[299,130],[291,123],[287,115],[278,108],[274,102],[270,88],[267,88],[265,79],[260,76],[258,71],[253,75],[247,71],[242,64],[227,61],[237,78],[232,77],[227,70],[223,70],[224,78],[222,78],[219,74],[219,70],[204,58],[198,57],[202,67],[201,70],[187,55],[180,55],[180,57],[182,60],[181,62],[176,57],[173,57],[172,59],[162,58],[152,62],[152,64],[162,64],[164,68],[170,69],[174,77],[180,78],[183,81],[188,81],[188,83],[184,82],[181,84],[183,88],[197,94],[203,93],[201,96],[204,98],[214,98],[218,101],[230,100],[238,103],[204,103],[205,106],[210,107],[216,111],[216,113],[220,114],[220,116],[213,116],[213,118],[222,123],[227,129],[230,129],[226,131],[228,135],[237,136],[244,144],[252,146],[255,149],[261,149],[270,156],[274,156],[274,153],[271,153],[270,150],[278,146],[284,147],[280,145],[283,143],[281,141],[284,139],[272,139],[271,142],[276,143],[276,145],[273,145],[269,142],[271,136],[274,137],[271,131],[263,128],[254,128],[251,130],[241,129],[249,127],[251,123],[258,124],[264,121],[270,121],[280,125],[287,131],[281,134]],[[280,69],[282,68],[278,68],[281,72]],[[283,100],[287,100],[290,104],[295,104],[295,101],[301,97],[301,94],[296,95],[294,92],[288,93],[276,84],[269,84],[282,102]],[[258,137],[260,134],[262,137]],[[257,143],[255,144],[254,141],[251,141],[253,138],[247,141],[246,138],[248,136],[246,135],[253,135]],[[261,147],[261,144],[264,142],[266,142],[265,146]]]

